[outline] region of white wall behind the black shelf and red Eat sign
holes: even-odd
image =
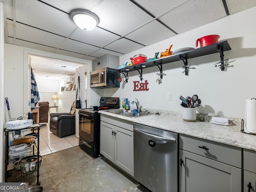
[[[244,118],[245,100],[256,97],[254,88],[256,71],[256,7],[230,15],[189,32],[179,34],[152,46],[148,46],[120,57],[120,63],[130,63],[130,57],[141,53],[153,57],[156,51],[165,51],[171,44],[172,51],[196,46],[196,39],[211,35],[220,35],[219,41],[228,40],[232,50],[224,51],[224,59],[229,58],[230,67],[221,71],[214,64],[220,61],[219,53],[188,59],[188,65],[194,67],[185,76],[180,66],[182,61],[163,65],[162,83],[156,83],[159,73],[157,67],[143,70],[144,80],[148,80],[149,91],[132,91],[133,81],[138,81],[138,71],[128,73],[128,83],[120,84],[120,89],[109,90],[113,97],[137,98],[146,108],[182,111],[180,95],[197,94],[202,100],[199,112],[226,117]],[[157,30],[157,29],[156,29]],[[159,54],[160,56],[160,54]],[[143,80],[143,82],[144,82]],[[167,101],[167,93],[172,93],[172,101]]]

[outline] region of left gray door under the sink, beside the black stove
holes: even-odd
[[[114,162],[114,131],[115,126],[100,121],[100,153]]]

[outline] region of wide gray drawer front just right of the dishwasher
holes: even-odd
[[[180,135],[180,149],[241,168],[242,149],[196,137]]]

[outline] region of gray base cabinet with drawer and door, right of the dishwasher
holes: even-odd
[[[241,192],[242,149],[180,135],[180,192]]]

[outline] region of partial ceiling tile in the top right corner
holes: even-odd
[[[230,14],[256,6],[255,0],[246,0],[246,3],[241,2],[241,0],[226,0],[226,3]]]

